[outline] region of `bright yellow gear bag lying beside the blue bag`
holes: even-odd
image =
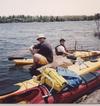
[[[47,84],[56,91],[61,91],[67,84],[67,81],[53,68],[45,68],[37,79],[42,84]]]

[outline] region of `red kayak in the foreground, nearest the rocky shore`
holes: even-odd
[[[0,98],[0,103],[28,103],[28,104],[50,104],[50,103],[73,103],[85,94],[88,94],[100,86],[100,71],[82,75],[82,84],[67,91],[50,93],[44,85],[25,90],[19,94]]]

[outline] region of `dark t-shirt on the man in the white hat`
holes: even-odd
[[[34,46],[35,49],[39,49],[38,53],[45,56],[48,62],[53,62],[53,51],[51,45],[47,42],[43,42]]]

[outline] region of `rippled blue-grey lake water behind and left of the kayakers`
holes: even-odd
[[[37,43],[38,33],[45,34],[53,48],[65,38],[68,49],[74,49],[77,41],[77,49],[100,50],[95,28],[93,21],[0,24],[0,87],[31,78],[27,68],[15,67],[8,56],[31,58],[28,47]]]

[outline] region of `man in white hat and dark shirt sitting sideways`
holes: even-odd
[[[46,42],[46,37],[39,34],[37,45],[31,46],[30,51],[33,55],[34,65],[46,65],[53,62],[53,51],[51,45]]]

